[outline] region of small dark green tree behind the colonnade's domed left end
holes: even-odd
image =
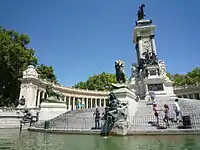
[[[39,73],[39,77],[41,79],[46,79],[47,81],[58,83],[52,66],[41,64],[37,67],[36,71]]]

